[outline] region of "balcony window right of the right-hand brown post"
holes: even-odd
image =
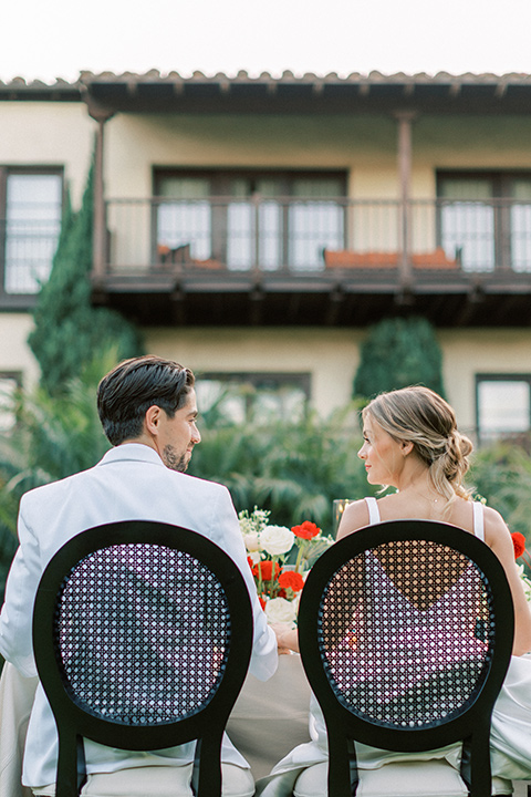
[[[531,271],[531,175],[439,174],[440,245],[465,271]]]

